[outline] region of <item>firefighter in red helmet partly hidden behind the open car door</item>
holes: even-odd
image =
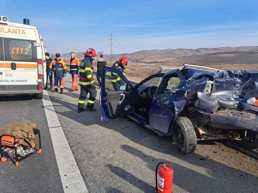
[[[117,62],[115,62],[113,64],[113,66],[111,66],[111,68],[117,69],[120,72],[122,72],[123,75],[125,75],[125,66],[127,65],[127,63],[128,63],[127,57],[122,56],[118,59]],[[115,72],[111,72],[110,81],[111,81],[115,91],[119,91],[120,86],[125,84],[124,81],[120,78],[120,76]]]

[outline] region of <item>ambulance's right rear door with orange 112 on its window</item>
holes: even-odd
[[[7,91],[38,90],[35,29],[3,26],[3,39]]]

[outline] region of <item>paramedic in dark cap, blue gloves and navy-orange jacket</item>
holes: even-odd
[[[55,59],[49,65],[48,75],[51,75],[51,71],[54,72],[55,89],[51,92],[58,92],[58,82],[60,85],[60,93],[64,94],[64,77],[66,77],[67,68],[64,61],[60,58],[60,54],[55,54]]]

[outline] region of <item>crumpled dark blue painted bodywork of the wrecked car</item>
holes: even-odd
[[[104,68],[103,75],[105,74],[105,72],[107,72],[107,70],[116,72],[121,77],[123,77],[125,80],[127,80],[122,75],[121,72],[116,71],[115,69],[107,68],[107,67]],[[176,95],[174,97],[172,95],[171,96],[162,95],[160,92],[161,92],[162,87],[166,83],[166,81],[165,81],[166,77],[175,72],[178,74],[178,77],[180,77],[180,79],[181,79],[181,82],[177,86]],[[184,74],[184,73],[187,73],[187,74]],[[186,78],[184,78],[183,74],[186,76]],[[236,78],[234,77],[234,75],[236,75]],[[161,84],[157,90],[157,95],[155,95],[154,100],[151,102],[149,119],[146,120],[146,119],[140,118],[139,116],[135,115],[133,113],[133,111],[131,111],[131,114],[129,115],[129,117],[134,119],[138,123],[148,127],[149,129],[155,131],[159,135],[166,135],[166,133],[169,129],[170,123],[174,123],[176,118],[187,107],[188,104],[193,104],[196,100],[198,100],[197,92],[203,92],[203,89],[205,88],[205,85],[206,85],[208,79],[210,79],[211,81],[218,80],[217,82],[221,81],[221,83],[217,83],[217,85],[215,84],[215,86],[218,87],[218,89],[213,88],[213,90],[211,92],[211,96],[216,95],[216,97],[218,97],[218,98],[219,97],[223,98],[224,93],[221,93],[220,91],[229,93],[228,95],[230,95],[232,93],[232,91],[230,89],[226,89],[227,85],[225,84],[226,83],[225,81],[230,82],[231,79],[229,76],[234,77],[234,79],[238,79],[238,76],[241,76],[241,75],[245,75],[244,77],[246,77],[246,79],[243,79],[242,81],[244,81],[244,83],[246,82],[246,84],[244,84],[243,86],[241,85],[242,86],[241,92],[238,92],[238,94],[236,94],[234,96],[236,96],[236,98],[238,98],[238,96],[244,96],[244,98],[248,98],[248,97],[250,98],[250,97],[256,96],[258,93],[257,92],[258,87],[256,84],[258,82],[257,81],[258,80],[258,78],[257,78],[258,71],[210,72],[210,71],[202,70],[202,69],[188,68],[188,69],[182,69],[182,70],[176,69],[176,70],[167,72],[163,76]],[[126,82],[128,85],[131,85],[128,81],[126,81]],[[144,80],[142,82],[144,82]],[[236,83],[236,81],[235,82],[231,81],[231,82],[232,82],[232,86],[229,88],[234,88],[234,83]],[[141,83],[139,83],[138,85],[141,85]],[[223,86],[224,84],[226,86]],[[136,88],[138,85],[136,85],[135,87],[131,87],[133,95],[134,95],[134,92],[137,92]],[[237,85],[235,85],[235,86],[237,86]],[[103,97],[107,98],[106,93],[104,92],[104,89],[105,89],[105,85],[102,84],[101,100]],[[101,118],[103,120],[109,120],[114,117],[112,117],[110,115],[108,106],[107,106],[107,104],[105,104],[105,102],[107,102],[107,101],[101,101]],[[168,104],[170,104],[170,105],[168,105]],[[207,108],[210,108],[209,103],[205,102],[204,106]],[[252,107],[248,104],[244,104],[241,102],[239,102],[237,109],[247,109],[247,110],[251,110],[253,112],[258,111],[257,107]],[[154,114],[156,114],[156,115],[154,115]],[[258,120],[257,117],[258,116],[256,115],[256,122]],[[150,122],[148,122],[149,120],[150,120]],[[230,120],[224,120],[224,121],[229,121],[228,124],[235,125]],[[173,124],[172,124],[172,126],[173,126]],[[158,128],[158,130],[157,130],[157,128]],[[257,131],[257,127],[256,127],[256,129],[253,129],[253,130]]]

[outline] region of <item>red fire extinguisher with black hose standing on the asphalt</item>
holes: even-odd
[[[160,164],[163,164],[159,168],[158,173],[158,179],[157,179],[157,171],[158,166]],[[172,185],[173,185],[173,174],[174,171],[170,167],[171,163],[163,163],[159,162],[156,167],[156,187],[155,187],[155,193],[158,191],[158,193],[171,193],[172,192]],[[158,180],[158,183],[157,183]]]

